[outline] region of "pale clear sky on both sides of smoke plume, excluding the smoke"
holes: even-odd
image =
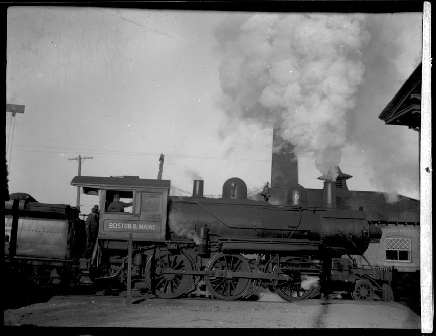
[[[216,38],[232,33],[228,22],[256,23],[255,14],[10,8],[6,98],[25,105],[15,119],[6,114],[10,193],[75,205],[78,162],[69,158],[93,157],[82,175],[155,179],[160,153],[163,179],[188,195],[193,179],[204,180],[205,195],[220,195],[234,176],[261,188],[271,176],[272,124],[224,111]],[[341,118],[340,167],[353,175],[350,190],[418,199],[418,133],[378,115],[421,60],[422,13],[363,16],[370,38],[355,107]],[[313,156],[300,155],[300,184],[322,188],[320,175]],[[96,203],[82,194],[82,213]]]

